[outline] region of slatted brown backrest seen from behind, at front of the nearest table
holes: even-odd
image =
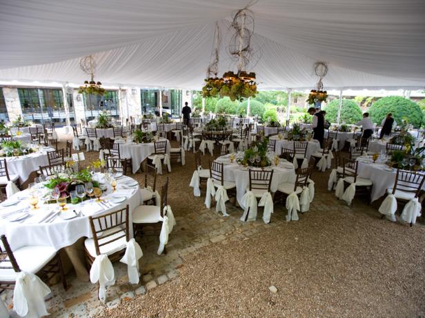
[[[100,247],[103,245],[110,244],[122,237],[126,237],[127,242],[130,240],[130,233],[128,231],[128,204],[124,209],[97,217],[89,216],[88,220],[92,229],[96,255],[100,255]],[[121,231],[124,231],[122,235],[116,235]]]

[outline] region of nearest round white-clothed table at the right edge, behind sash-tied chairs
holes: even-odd
[[[357,161],[359,162],[357,170],[359,177],[370,179],[373,182],[372,193],[370,193],[372,202],[381,198],[386,189],[394,187],[397,169],[390,168],[383,163],[373,163],[371,156],[359,157]],[[422,189],[425,190],[425,185]]]

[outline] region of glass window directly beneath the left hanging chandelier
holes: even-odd
[[[119,118],[118,91],[106,91],[103,95],[83,94],[86,120],[93,120],[99,112],[108,112],[113,118]]]

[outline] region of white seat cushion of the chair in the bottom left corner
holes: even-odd
[[[37,274],[56,255],[55,248],[51,246],[24,246],[13,251],[21,271]],[[9,262],[0,264],[0,280],[14,282],[17,273],[13,268],[1,268],[2,266],[12,266]]]

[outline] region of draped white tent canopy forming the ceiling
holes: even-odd
[[[215,22],[224,39],[241,0],[0,0],[0,80],[81,84],[82,56],[97,61],[104,84],[199,89]],[[422,89],[425,1],[259,0],[252,71],[260,89],[310,88],[315,61],[326,61],[325,88]]]

